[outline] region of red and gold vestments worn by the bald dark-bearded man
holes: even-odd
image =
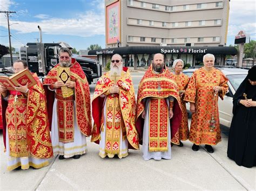
[[[169,109],[165,98],[174,97],[173,117],[169,120]],[[179,144],[179,125],[181,122],[181,104],[177,84],[173,74],[166,68],[163,73],[153,73],[152,65],[146,71],[139,83],[136,112],[136,128],[139,133],[140,144],[142,144],[144,119],[141,117],[145,109],[144,98],[151,98],[150,101],[150,129],[149,142],[150,151],[167,150],[167,129],[168,123],[171,126],[171,142]]]

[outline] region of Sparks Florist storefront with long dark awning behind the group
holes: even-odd
[[[207,53],[214,54],[215,65],[224,65],[226,55],[237,54],[237,49],[223,46],[127,46],[95,49],[88,52],[89,55],[97,55],[99,63],[102,63],[103,67],[110,62],[113,54],[120,54],[125,66],[134,67],[134,69],[149,66],[156,53],[165,55],[165,63],[169,67],[172,66],[175,59],[182,59],[184,65],[187,63],[190,66],[202,65],[203,56]]]

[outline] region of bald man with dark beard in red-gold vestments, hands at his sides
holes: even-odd
[[[171,159],[171,143],[179,145],[181,105],[177,83],[164,65],[164,55],[153,63],[139,83],[136,128],[144,160]]]

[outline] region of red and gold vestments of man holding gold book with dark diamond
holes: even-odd
[[[43,82],[43,85],[50,86],[58,81],[59,68],[63,69],[63,67],[60,67],[58,63],[54,68],[50,70]],[[57,88],[55,95],[55,98],[58,100],[57,111],[59,138],[60,142],[63,143],[73,142],[74,117],[77,119],[80,132],[82,132],[85,136],[89,137],[92,131],[90,89],[84,71],[79,63],[73,58],[71,60],[71,66],[67,68],[67,70],[69,72],[65,74],[65,77],[66,79],[70,78],[71,81],[75,82],[75,92],[72,93],[70,90]],[[48,113],[51,115],[53,104],[53,97],[51,96],[54,94],[48,90],[46,95],[49,103],[51,103],[51,105],[48,105]],[[76,116],[73,115],[73,100],[76,102]]]

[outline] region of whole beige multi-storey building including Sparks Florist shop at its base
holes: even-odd
[[[229,0],[105,0],[106,48],[89,54],[97,54],[103,66],[113,53],[122,53],[127,66],[149,66],[163,47],[170,50],[163,52],[167,66],[175,59],[195,66],[202,65],[203,55],[216,47],[215,65],[224,65],[226,55],[236,54],[223,47],[229,5]],[[125,53],[124,47],[138,48],[127,48]],[[193,47],[205,51],[192,52]]]

